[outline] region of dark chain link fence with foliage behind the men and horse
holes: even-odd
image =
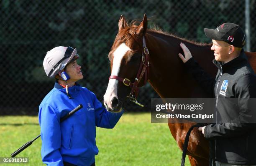
[[[42,66],[48,50],[72,46],[80,55],[84,79],[79,83],[100,101],[108,86],[108,52],[118,33],[118,20],[142,19],[148,27],[209,43],[204,28],[231,22],[245,30],[244,0],[1,0],[0,115],[37,114],[54,79]],[[256,1],[249,0],[251,51],[256,51]],[[138,101],[150,105],[158,97],[147,84]],[[142,111],[133,104],[129,111]]]

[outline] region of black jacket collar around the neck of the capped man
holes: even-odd
[[[212,60],[212,62],[218,67],[218,69],[221,70],[221,68],[222,68],[222,70],[228,70],[228,69],[234,68],[234,66],[236,66],[238,63],[241,63],[241,62],[247,61],[247,60],[248,59],[244,53],[244,50],[242,49],[240,55],[238,57],[236,57],[235,59],[230,60],[228,63],[219,62],[215,59]]]

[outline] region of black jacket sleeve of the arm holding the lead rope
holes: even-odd
[[[205,138],[240,136],[256,127],[256,77],[252,74],[242,75],[236,83],[239,115],[230,123],[217,123],[205,127]]]

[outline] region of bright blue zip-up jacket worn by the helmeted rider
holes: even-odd
[[[96,127],[113,128],[122,116],[108,112],[87,88],[75,85],[66,89],[55,83],[39,106],[41,156],[49,166],[63,166],[63,161],[90,166],[98,154]],[[61,117],[79,104],[84,107],[60,123]]]

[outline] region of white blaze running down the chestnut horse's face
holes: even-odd
[[[121,60],[123,59],[124,55],[127,53],[128,50],[131,50],[125,43],[122,43],[118,46],[118,48],[114,51],[113,56],[113,65],[112,65],[112,71],[111,75],[117,75],[120,70],[120,65],[121,65]],[[104,95],[104,104],[107,104],[110,109],[113,109],[111,106],[111,101],[113,98],[117,98],[117,85],[118,85],[118,80],[116,79],[110,79],[108,81],[108,88],[107,91]]]

